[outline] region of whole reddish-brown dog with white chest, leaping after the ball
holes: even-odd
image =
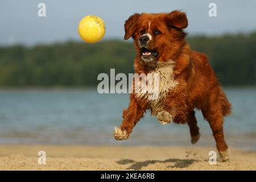
[[[229,159],[224,140],[224,116],[231,105],[203,53],[192,51],[185,40],[188,26],[185,13],[172,11],[160,14],[134,14],[125,22],[125,40],[134,39],[137,57],[135,73],[159,74],[159,97],[149,100],[148,94],[130,94],[123,122],[115,128],[117,140],[127,139],[147,109],[163,123],[188,123],[191,143],[200,138],[194,109],[207,119],[222,160]]]

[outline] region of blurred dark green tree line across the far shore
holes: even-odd
[[[256,85],[256,32],[189,36],[195,51],[208,55],[223,85]],[[132,42],[65,42],[0,47],[0,86],[96,86],[99,73],[133,73]]]

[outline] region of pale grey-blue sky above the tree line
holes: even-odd
[[[38,16],[38,4],[46,3],[46,17]],[[209,17],[208,5],[217,5],[217,17]],[[160,13],[175,9],[187,13],[189,35],[219,35],[256,30],[256,1],[232,0],[1,0],[0,45],[80,40],[77,25],[89,14],[106,24],[104,39],[123,38],[123,23],[133,13]]]

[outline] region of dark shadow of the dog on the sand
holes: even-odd
[[[155,163],[175,163],[173,166],[168,166],[168,168],[185,168],[190,166],[193,162],[196,162],[195,159],[166,159],[166,160],[145,160],[143,162],[135,162],[131,159],[122,159],[117,161],[118,164],[131,164],[127,169],[141,170],[142,167],[146,167],[149,164]]]

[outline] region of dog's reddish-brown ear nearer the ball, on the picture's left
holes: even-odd
[[[125,21],[125,40],[129,39],[137,28],[137,22],[141,14],[135,13]]]

